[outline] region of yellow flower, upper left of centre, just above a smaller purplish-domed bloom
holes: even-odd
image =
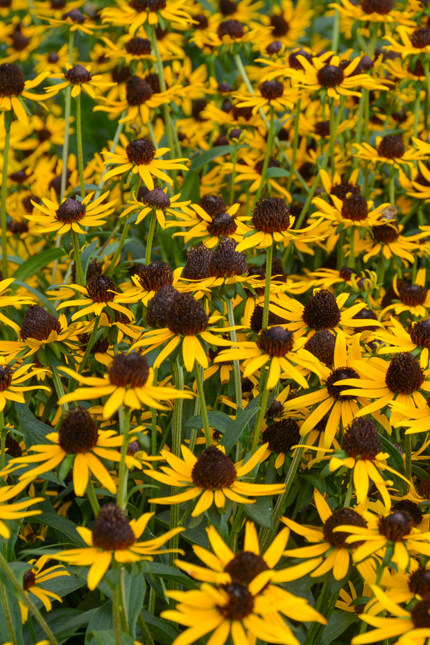
[[[132,175],[139,175],[146,188],[153,190],[154,177],[173,185],[173,180],[163,171],[188,170],[187,166],[182,163],[187,161],[185,158],[159,159],[158,157],[169,152],[170,148],[158,148],[157,150],[152,141],[146,137],[128,141],[125,136],[121,135],[121,143],[123,146],[115,148],[117,152],[102,153],[106,157],[106,166],[114,166],[105,173],[105,181],[131,171]]]

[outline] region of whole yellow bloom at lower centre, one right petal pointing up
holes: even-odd
[[[237,464],[225,455],[222,448],[215,446],[209,446],[197,458],[187,446],[182,445],[183,460],[162,450],[162,456],[169,466],[162,466],[162,472],[145,470],[145,474],[155,481],[185,490],[169,497],[155,497],[150,501],[155,504],[182,504],[184,501],[197,499],[191,516],[198,517],[214,503],[218,508],[224,508],[227,499],[239,504],[253,504],[255,500],[248,499],[248,496],[282,493],[282,484],[241,481],[259,463],[266,447],[264,444],[248,461]]]

